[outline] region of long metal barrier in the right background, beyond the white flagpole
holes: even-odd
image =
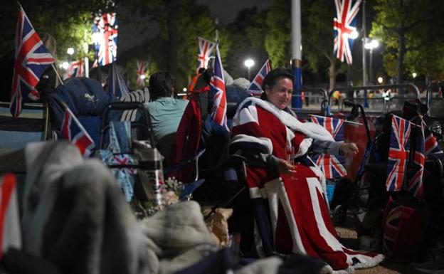
[[[376,90],[378,92],[381,92],[381,97],[354,97],[354,98],[347,98],[348,100],[351,101],[358,101],[361,102],[362,105],[364,105],[364,107],[367,108],[375,108],[374,106],[379,106],[379,103],[374,103],[374,102],[378,102],[378,101],[382,101],[381,103],[381,107],[382,109],[379,111],[375,111],[377,113],[381,112],[381,113],[386,113],[390,110],[391,106],[395,105],[396,107],[398,106],[398,103],[396,103],[396,100],[408,100],[408,99],[419,99],[421,100],[421,93],[419,92],[419,89],[416,85],[413,84],[401,84],[401,85],[369,85],[369,86],[364,86],[364,87],[335,87],[332,88],[332,90],[330,90],[329,92],[329,98],[328,98],[328,106],[329,108],[331,108],[332,105],[332,97],[334,92],[339,91],[339,92],[345,92],[345,93],[360,93],[361,91],[364,91],[364,93],[371,91],[371,90]],[[401,93],[398,90],[412,90],[413,94],[409,94],[409,93]],[[391,93],[397,93],[398,95],[395,96],[391,96]],[[343,109],[343,105],[342,105],[342,100],[344,98],[340,98],[338,100],[338,110],[342,111]],[[371,102],[369,104],[369,102]],[[395,102],[395,103],[393,103]],[[371,112],[371,111],[370,111]],[[329,114],[329,113],[328,113]]]

